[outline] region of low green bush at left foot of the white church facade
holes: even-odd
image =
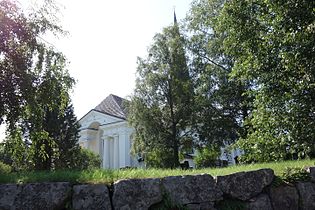
[[[101,167],[101,157],[88,149],[80,148],[74,165],[74,169],[96,169]]]

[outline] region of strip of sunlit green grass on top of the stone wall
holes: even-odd
[[[31,182],[71,182],[71,183],[106,183],[119,179],[131,178],[161,178],[166,176],[193,175],[207,173],[212,176],[222,176],[240,171],[251,171],[261,168],[271,168],[281,176],[288,167],[303,168],[314,166],[315,160],[285,161],[237,165],[226,168],[205,168],[194,170],[181,169],[124,169],[124,170],[90,170],[90,171],[53,171],[53,172],[20,172],[0,174],[0,183],[31,183]]]

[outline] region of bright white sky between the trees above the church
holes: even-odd
[[[35,0],[21,0],[22,4]],[[77,81],[71,98],[80,119],[106,96],[131,95],[137,57],[145,57],[156,33],[185,18],[192,0],[56,0],[60,25],[69,32],[45,40],[63,52]],[[0,140],[3,137],[0,128]]]

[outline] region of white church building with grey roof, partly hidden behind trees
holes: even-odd
[[[79,144],[101,156],[102,168],[143,167],[144,164],[130,154],[134,129],[128,126],[124,101],[111,94],[79,120]],[[219,159],[235,164],[235,157],[240,154],[239,150],[227,153],[222,148]],[[183,161],[187,161],[189,167],[195,167],[194,156],[188,154]]]

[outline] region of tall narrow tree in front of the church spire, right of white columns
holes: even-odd
[[[179,150],[192,125],[193,85],[184,39],[174,26],[154,37],[146,59],[138,59],[136,88],[128,120],[135,128],[134,149],[154,166],[179,166]]]

